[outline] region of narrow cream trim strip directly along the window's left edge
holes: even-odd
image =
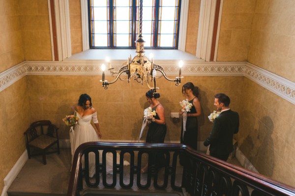
[[[88,1],[81,0],[82,48],[89,50]]]

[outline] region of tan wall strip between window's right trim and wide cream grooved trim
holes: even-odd
[[[201,0],[190,0],[188,8],[185,52],[196,55]]]

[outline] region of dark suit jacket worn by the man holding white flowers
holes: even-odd
[[[238,132],[239,116],[228,110],[221,112],[213,122],[213,128],[204,145],[210,144],[210,153],[216,155],[230,154],[233,148],[233,136]]]

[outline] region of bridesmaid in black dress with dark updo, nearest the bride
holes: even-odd
[[[148,103],[150,103],[152,111],[156,111],[155,119],[149,123],[148,134],[146,138],[146,142],[149,143],[163,143],[167,131],[164,108],[158,101],[159,97],[160,94],[153,92],[153,90],[149,90],[146,93],[146,98],[148,100]],[[149,162],[154,163],[157,168],[164,167],[164,154],[152,153]],[[147,171],[148,165],[141,169],[142,173],[146,173]]]

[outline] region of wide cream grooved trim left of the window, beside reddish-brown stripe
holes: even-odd
[[[54,0],[59,61],[72,55],[68,0]]]

